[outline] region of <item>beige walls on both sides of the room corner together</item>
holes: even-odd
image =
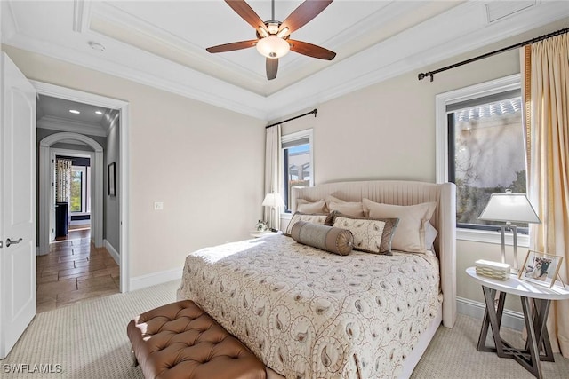
[[[568,21],[421,71],[541,36]],[[130,103],[132,276],[179,267],[188,251],[248,237],[262,210],[265,122],[37,54],[10,47],[5,51],[30,79]],[[418,81],[417,72],[399,75],[316,105],[316,118],[287,122],[283,132],[313,128],[316,183],[365,178],[433,182],[435,96],[518,72],[518,53],[509,51],[435,75],[433,83]],[[164,201],[164,211],[154,211],[153,201]],[[464,269],[499,254],[499,245],[457,242],[458,296],[482,301],[480,288]]]

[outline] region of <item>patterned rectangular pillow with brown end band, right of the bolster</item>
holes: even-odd
[[[360,218],[335,213],[333,226],[349,230],[354,235],[354,249],[366,253],[391,255],[391,240],[397,228],[397,218]]]

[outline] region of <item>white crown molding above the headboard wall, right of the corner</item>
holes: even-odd
[[[482,2],[459,5],[436,20],[424,21],[333,67],[325,68],[317,75],[298,83],[293,89],[276,93],[269,99],[271,104],[279,103],[281,107],[269,107],[271,111],[268,113],[268,119],[276,120],[312,107],[310,104],[339,98],[397,75],[421,70],[430,64],[561,20],[569,16],[569,7],[561,3],[541,3],[491,24],[487,21],[485,4]],[[531,11],[537,7],[540,7],[539,18]],[[434,43],[441,40],[445,42]],[[421,46],[421,50],[418,50],[417,46]],[[325,91],[322,90],[324,83],[330,83]],[[299,98],[294,96],[294,93],[306,95]]]

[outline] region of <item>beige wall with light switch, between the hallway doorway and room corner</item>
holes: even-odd
[[[188,252],[249,237],[261,217],[265,122],[3,46],[29,79],[130,104],[131,277],[176,269]],[[124,172],[124,171],[121,171]],[[164,210],[155,211],[154,201]]]

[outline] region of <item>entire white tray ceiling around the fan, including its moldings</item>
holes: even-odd
[[[268,81],[265,59],[254,48],[205,51],[255,38],[221,0],[1,3],[2,43],[263,120],[569,17],[565,1],[336,0],[292,35],[335,51],[336,58],[290,52]],[[271,18],[269,0],[248,4],[262,20]],[[300,4],[276,0],[276,19]]]

